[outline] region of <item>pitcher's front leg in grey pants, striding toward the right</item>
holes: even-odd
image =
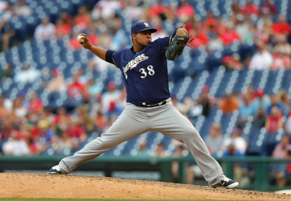
[[[216,185],[225,177],[219,163],[210,155],[199,132],[178,109],[172,104],[167,104],[156,114],[155,111],[152,112],[153,117],[150,119],[152,128],[187,145],[209,186]]]

